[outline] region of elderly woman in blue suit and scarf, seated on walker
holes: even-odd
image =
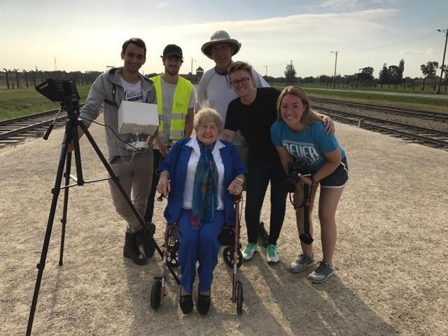
[[[179,264],[183,314],[193,310],[193,282],[196,262],[199,275],[197,309],[205,315],[210,308],[213,271],[221,244],[223,225],[235,224],[232,195],[243,190],[246,167],[235,146],[219,140],[223,121],[214,109],[202,109],[193,123],[196,137],[176,143],[160,165],[157,187],[168,196],[167,223],[179,225]]]

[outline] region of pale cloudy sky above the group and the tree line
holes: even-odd
[[[122,66],[121,45],[140,37],[148,48],[144,73],[163,71],[162,50],[183,49],[181,73],[214,62],[201,52],[218,29],[241,42],[234,60],[262,75],[342,76],[405,60],[404,76],[442,64],[447,0],[0,0],[0,68],[106,71]],[[333,53],[332,53],[333,51]],[[56,62],[55,62],[56,60]],[[448,56],[445,63],[448,62]]]

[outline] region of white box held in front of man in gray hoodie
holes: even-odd
[[[118,132],[153,136],[159,127],[157,104],[123,100],[118,109]]]

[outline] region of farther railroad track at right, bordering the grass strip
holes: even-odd
[[[320,107],[316,103],[337,104],[337,105],[350,106],[350,107],[354,107],[354,108],[363,108],[363,109],[370,109],[370,110],[376,109],[379,111],[383,111],[383,112],[390,113],[390,114],[395,114],[398,116],[409,116],[409,117],[415,117],[415,118],[435,120],[435,121],[440,121],[440,122],[448,122],[448,113],[420,111],[420,110],[413,110],[413,109],[403,109],[403,108],[398,108],[398,107],[393,107],[393,106],[381,106],[381,105],[374,105],[374,104],[346,102],[346,101],[342,101],[342,100],[323,99],[323,98],[316,98],[316,97],[311,97],[311,101],[313,102],[313,106],[316,108]]]

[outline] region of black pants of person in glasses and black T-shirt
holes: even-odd
[[[280,160],[278,162],[269,162],[248,158],[247,166],[249,171],[246,179],[246,228],[248,241],[249,243],[257,243],[261,207],[270,181],[271,217],[269,244],[276,244],[283,225],[283,219],[285,218],[288,192],[283,181],[286,179],[286,174],[283,167],[281,167]]]

